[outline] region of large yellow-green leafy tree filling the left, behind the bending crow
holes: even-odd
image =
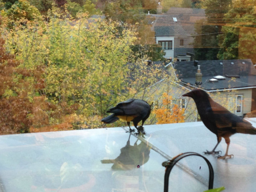
[[[129,98],[147,100],[151,85],[164,77],[163,65],[148,65],[147,54],[134,55],[133,26],[123,25],[120,31],[118,22],[89,19],[82,12],[73,20],[63,9],[52,7],[45,20],[17,17],[15,30],[8,27],[12,18],[2,17],[3,47],[19,64],[9,73],[13,85],[0,91],[9,103],[23,98],[15,105],[28,111],[22,116],[27,123],[16,123],[11,130],[67,121],[71,128],[102,127],[108,108]]]

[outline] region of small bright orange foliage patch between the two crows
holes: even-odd
[[[172,105],[172,96],[167,93],[163,93],[163,98],[163,106],[153,111],[157,118],[157,124],[185,122],[185,109],[181,109],[177,104]]]

